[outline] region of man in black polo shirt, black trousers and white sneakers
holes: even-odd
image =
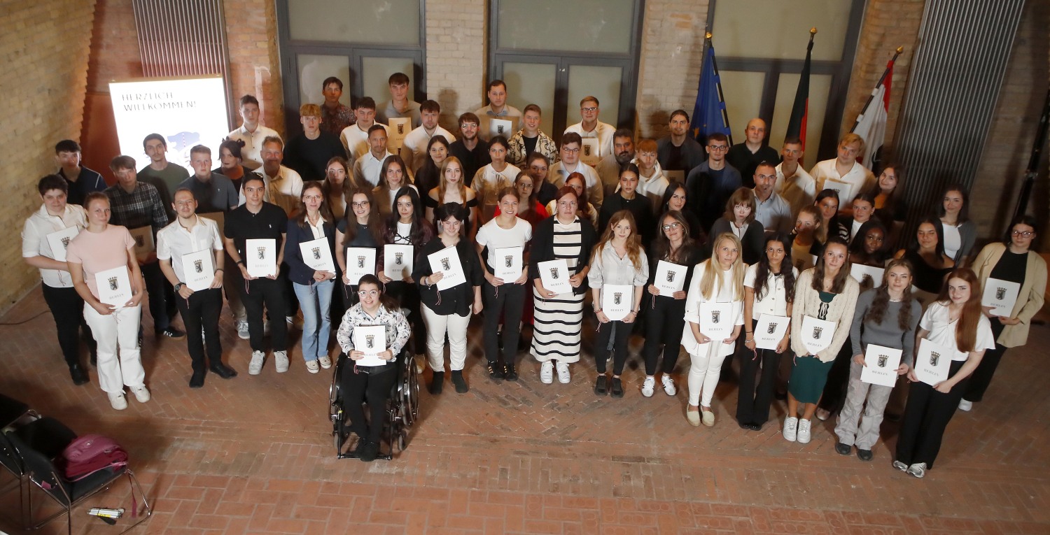
[[[248,365],[248,374],[257,376],[262,371],[266,352],[262,350],[262,307],[271,311],[271,315],[279,315],[285,311],[284,275],[280,264],[285,259],[285,234],[288,229],[288,216],[276,205],[262,200],[266,193],[266,183],[262,177],[250,174],[245,177],[242,187],[245,190],[245,204],[231,211],[226,216],[226,231],[223,241],[226,252],[240,270],[245,285],[239,287],[240,300],[248,313],[248,333],[252,346],[252,360]],[[273,239],[276,248],[276,273],[269,277],[252,277],[248,274],[245,262],[245,241],[249,239]],[[273,357],[278,373],[288,371],[288,325],[284,321],[273,321],[271,342]]]

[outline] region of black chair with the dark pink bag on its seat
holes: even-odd
[[[99,492],[108,489],[113,483],[120,479],[122,476],[127,476],[128,487],[131,489],[131,499],[132,511],[138,509],[138,498],[135,497],[135,492],[138,495],[142,496],[143,510],[141,512],[141,517],[135,520],[134,523],[128,526],[121,533],[125,533],[131,528],[139,526],[146,518],[148,518],[152,511],[149,508],[149,502],[146,500],[146,494],[142,491],[142,486],[139,485],[139,479],[135,478],[134,472],[127,466],[107,468],[104,470],[99,470],[83,479],[76,482],[70,482],[66,479],[62,472],[60,472],[56,467],[55,463],[51,462],[51,457],[48,457],[46,453],[39,449],[33,448],[28,443],[23,441],[17,433],[8,434],[10,443],[15,446],[16,451],[21,456],[24,464],[26,473],[28,474],[28,479],[30,483],[36,485],[40,490],[47,494],[56,504],[62,507],[62,510],[44,518],[39,523],[33,526],[34,530],[39,530],[43,528],[51,520],[66,515],[67,531],[69,535],[72,535],[72,509],[81,505],[84,500],[90,498],[91,496],[98,494]],[[67,443],[68,445],[68,443]],[[41,445],[42,448],[47,450],[54,450],[57,448],[56,445]],[[63,446],[63,449],[65,447]],[[60,450],[61,451],[61,450]],[[33,488],[29,488],[28,492],[28,519],[26,523],[33,522],[34,508],[33,508]]]

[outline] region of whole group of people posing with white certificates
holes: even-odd
[[[370,98],[340,109],[342,84],[326,80],[326,102],[302,106],[303,132],[287,144],[258,124],[258,102],[246,95],[220,165],[193,147],[192,175],[167,162],[159,134],[144,140],[151,162],[142,170],[130,156],[112,159],[111,187],[80,166],[75,142],[59,143],[61,169],[39,181],[43,206],[26,220],[23,257],[40,270],[74,382],[88,382],[83,330],[112,407],[127,407],[125,387],[149,400],[140,355],[147,296],[158,335],[187,338],[191,388],[209,370],[236,376],[218,337],[224,292],[251,346],[249,374],[266,365],[266,337],[276,371],[289,369],[288,331],[301,311],[307,370],[332,367],[333,330],[349,359],[340,381],[359,456],[370,461],[381,426],[366,424],[360,402],[382,421],[402,355],[430,367],[439,394],[447,339],[450,382],[468,391],[467,326],[483,314],[489,378],[517,381],[527,346],[540,382],[565,384],[587,321],[597,395],[625,395],[633,334],[645,338],[642,394],[652,397],[658,378],[675,395],[684,347],[693,426],[715,424],[713,394],[730,356],[740,365],[741,428],[761,429],[786,384],[784,438],[807,443],[815,416],[838,413],[836,450],[856,448],[863,461],[898,392],[894,466],[922,477],[957,408],[982,400],[1043,305],[1046,263],[1031,251],[1031,217],[974,257],[966,191],[952,186],[907,239],[902,168],[876,177],[858,163],[864,143],[854,134],[807,173],[801,142],[788,138],[778,155],[759,119],[744,143],[712,134],[701,146],[687,135],[688,113],[675,110],[670,136],[635,143],[630,130],[598,122],[597,99],[587,97],[583,120],[555,144],[539,130],[540,108],[507,106],[506,85],[494,81],[489,105],[459,116],[456,140],[438,126],[436,102],[406,101],[404,74],[390,85],[383,125]],[[508,116],[521,122],[509,137],[480,133]],[[391,117],[414,126],[395,152],[387,129],[403,123]],[[907,245],[895,254],[897,241]],[[1008,313],[982,306],[989,279],[1016,285]],[[171,325],[175,309],[185,334]],[[779,330],[770,318],[784,320]],[[376,325],[381,349],[372,338],[362,346],[358,334]],[[943,381],[916,374],[922,340],[951,349]],[[862,380],[870,345],[901,352],[892,372],[906,387]]]

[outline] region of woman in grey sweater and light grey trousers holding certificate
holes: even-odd
[[[888,367],[891,372],[887,374],[892,378],[907,373],[915,362],[915,335],[921,315],[922,305],[911,297],[911,263],[907,260],[890,260],[882,284],[857,298],[849,327],[849,386],[835,426],[839,438],[835,451],[839,454],[848,455],[856,446],[857,458],[872,461],[875,456],[872,447],[879,441],[879,426],[896,379],[890,379],[889,386],[873,384],[864,381],[863,371],[865,367]],[[900,350],[898,366],[887,366],[888,356],[866,363],[865,354],[873,346]]]

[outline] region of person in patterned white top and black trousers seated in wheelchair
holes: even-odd
[[[343,410],[350,416],[350,430],[360,440],[355,453],[364,462],[376,459],[383,421],[386,418],[386,400],[397,380],[397,356],[408,342],[412,333],[408,321],[401,314],[393,298],[383,295],[382,285],[375,275],[361,277],[357,284],[359,301],[346,311],[336,333],[336,340],[350,361],[342,366],[340,389]],[[357,327],[383,325],[386,331],[386,349],[379,358],[386,361],[379,366],[359,366],[356,361],[365,352],[355,347],[354,330]],[[361,406],[368,401],[371,419],[365,420]],[[371,422],[371,425],[369,424]]]

